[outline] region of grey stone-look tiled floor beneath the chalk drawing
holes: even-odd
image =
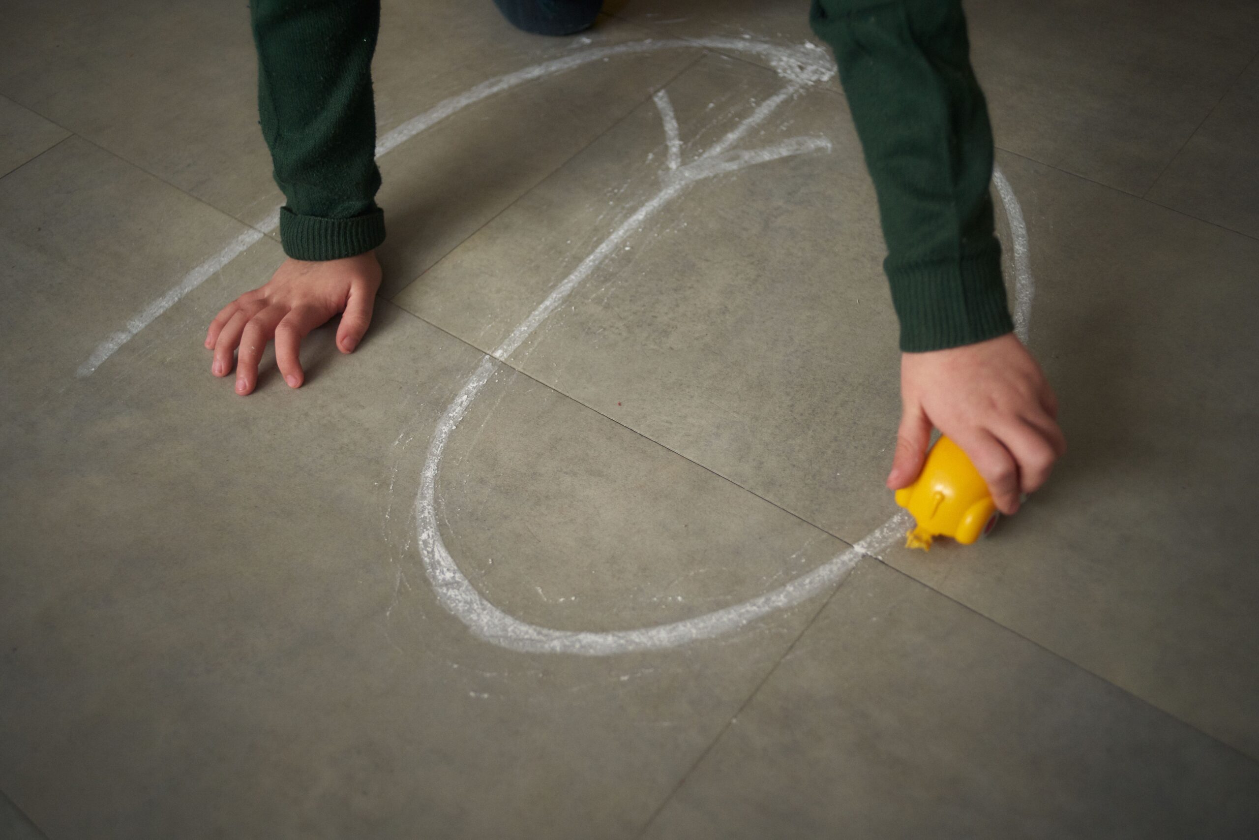
[[[730,42],[799,48],[807,3],[614,0],[545,39],[387,0],[381,135],[656,45],[384,155],[368,340],[319,330],[301,390],[272,366],[244,399],[200,344],[282,259],[244,5],[6,4],[0,834],[1259,836],[1259,6],[967,10],[1069,456],[981,545],[588,656],[520,627],[694,628],[894,511],[895,321],[833,78],[734,146],[806,154],[583,268],[663,189],[653,96],[696,161],[782,89]],[[507,622],[478,635],[426,573],[429,446],[574,272],[441,456],[437,531]]]

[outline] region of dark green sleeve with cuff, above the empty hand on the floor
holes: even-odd
[[[385,238],[376,207],[371,54],[379,0],[253,0],[258,113],[276,184],[285,253],[337,259]]]

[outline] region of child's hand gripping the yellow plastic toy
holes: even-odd
[[[900,429],[888,486],[910,485],[923,468],[932,426],[969,456],[997,509],[1019,510],[1019,494],[1045,484],[1066,452],[1058,399],[1013,335],[900,359]]]

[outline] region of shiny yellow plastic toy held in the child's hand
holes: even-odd
[[[997,524],[997,506],[983,476],[953,441],[940,437],[914,484],[896,491],[896,504],[917,521],[906,548],[930,550],[937,536],[969,545]]]

